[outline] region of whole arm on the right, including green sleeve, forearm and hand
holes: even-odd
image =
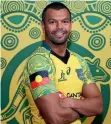
[[[102,113],[103,101],[99,88],[94,83],[94,79],[90,72],[87,62],[82,59],[80,61],[82,66],[83,88],[82,96],[84,99],[61,99],[61,105],[64,107],[71,107],[75,111],[85,116],[93,116]]]

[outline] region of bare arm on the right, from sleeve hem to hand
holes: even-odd
[[[73,108],[78,113],[87,117],[102,113],[102,96],[96,84],[92,83],[84,86],[82,96],[84,99],[80,100],[71,98],[63,99],[61,100],[61,105]]]

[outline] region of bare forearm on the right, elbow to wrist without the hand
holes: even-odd
[[[83,100],[74,99],[72,108],[85,116],[100,114],[103,110],[102,100],[100,97],[85,98]]]

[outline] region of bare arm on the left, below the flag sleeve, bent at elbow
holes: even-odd
[[[80,118],[73,109],[60,105],[58,93],[42,96],[36,99],[35,103],[48,124],[69,124]]]

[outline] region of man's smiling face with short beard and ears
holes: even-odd
[[[48,9],[42,28],[46,40],[56,45],[66,43],[71,31],[70,14],[67,9]]]

